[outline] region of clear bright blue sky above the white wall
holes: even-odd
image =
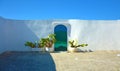
[[[0,16],[11,19],[120,19],[120,0],[0,0]]]

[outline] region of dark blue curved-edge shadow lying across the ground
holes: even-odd
[[[56,66],[49,53],[5,52],[0,55],[0,71],[56,71]]]

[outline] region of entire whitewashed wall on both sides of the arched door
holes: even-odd
[[[71,25],[69,39],[88,43],[84,49],[120,50],[120,20],[10,20],[0,18],[0,53],[30,51],[26,41],[36,41],[53,33],[53,22]]]

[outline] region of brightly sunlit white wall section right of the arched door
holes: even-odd
[[[71,38],[89,46],[81,49],[120,50],[119,20],[69,20]]]

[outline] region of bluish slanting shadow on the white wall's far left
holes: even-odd
[[[0,23],[0,53],[4,51],[27,51],[26,41],[39,38],[28,28],[25,21],[5,20]]]

